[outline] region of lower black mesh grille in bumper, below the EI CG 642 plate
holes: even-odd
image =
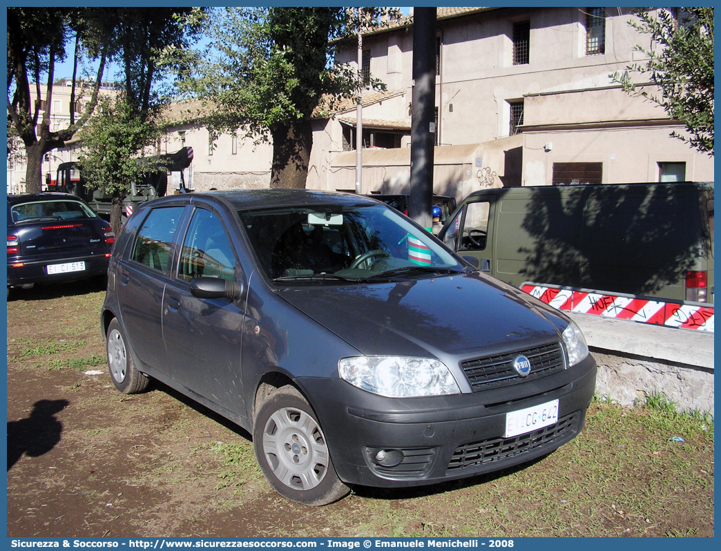
[[[484,470],[483,467],[489,463],[503,462],[505,459],[546,446],[550,451],[554,449],[551,445],[554,441],[578,431],[579,418],[580,412],[575,411],[560,418],[554,425],[539,428],[528,434],[463,444],[454,451],[448,464],[447,474],[459,470]]]

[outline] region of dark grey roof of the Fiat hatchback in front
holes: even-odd
[[[181,195],[169,195],[179,198]],[[235,210],[255,210],[257,208],[303,206],[303,205],[371,205],[379,201],[363,195],[333,191],[298,190],[288,188],[261,190],[211,191],[206,193],[188,193],[182,195],[190,202],[195,198],[218,198],[229,203]],[[156,199],[156,201],[162,200]]]

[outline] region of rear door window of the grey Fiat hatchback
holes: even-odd
[[[131,260],[164,272],[170,261],[175,229],[183,207],[155,208],[138,230]]]

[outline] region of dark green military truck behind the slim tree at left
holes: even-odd
[[[180,192],[187,191],[185,186],[185,172],[193,162],[193,148],[183,147],[180,151],[164,155],[157,155],[147,159],[138,159],[138,162],[161,167],[146,172],[143,180],[131,183],[131,190],[123,201],[122,224],[133,214],[135,209],[146,201],[166,195],[168,192],[168,175],[170,172],[180,172]],[[66,162],[58,165],[57,178],[53,185],[48,185],[50,191],[73,193],[87,201],[97,214],[110,221],[112,210],[112,194],[104,193],[94,188],[92,182],[87,182],[79,172],[75,162]]]

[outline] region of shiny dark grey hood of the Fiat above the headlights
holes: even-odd
[[[530,297],[479,273],[279,294],[368,356],[430,353],[454,362],[560,339]]]

